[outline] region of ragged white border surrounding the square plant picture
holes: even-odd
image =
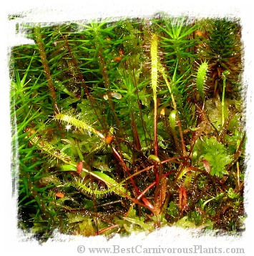
[[[110,245],[122,245],[131,247],[132,245],[142,245],[142,247],[192,247],[192,245],[202,245],[203,247],[243,247],[245,254],[252,252],[251,237],[253,237],[253,15],[250,11],[252,7],[248,1],[14,1],[10,0],[2,3],[0,15],[1,24],[1,84],[0,84],[0,171],[4,176],[1,177],[1,217],[0,227],[2,240],[4,238],[4,247],[1,251],[7,254],[17,253],[18,255],[45,255],[46,253],[57,253],[59,255],[79,255],[77,245],[86,245],[87,247],[110,247]],[[133,234],[132,237],[121,239],[114,237],[107,241],[104,237],[69,237],[55,234],[54,240],[49,240],[44,245],[38,245],[36,241],[28,241],[23,234],[16,229],[16,198],[10,196],[12,193],[12,184],[10,177],[11,166],[11,125],[9,116],[9,47],[20,44],[21,35],[15,34],[13,22],[7,20],[8,14],[23,14],[21,21],[26,22],[65,22],[67,20],[94,19],[105,17],[136,17],[151,16],[157,11],[165,11],[174,16],[195,16],[195,17],[217,17],[238,16],[243,26],[243,43],[244,43],[244,64],[243,82],[246,86],[246,115],[247,115],[247,136],[248,145],[248,165],[246,179],[248,183],[245,186],[245,210],[248,214],[246,220],[246,231],[241,238],[239,237],[192,237],[191,232],[187,230],[164,228],[146,234]],[[3,62],[3,60],[5,62]],[[3,225],[4,224],[4,225]],[[23,239],[24,238],[24,239]],[[22,241],[23,240],[23,241]],[[62,241],[62,242],[61,242]],[[87,254],[87,252],[86,252]],[[143,255],[143,254],[139,254]],[[183,254],[177,254],[183,255]],[[210,254],[211,255],[211,254]]]

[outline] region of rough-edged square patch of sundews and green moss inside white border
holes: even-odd
[[[34,44],[10,62],[20,229],[244,230],[239,20],[22,27]]]

